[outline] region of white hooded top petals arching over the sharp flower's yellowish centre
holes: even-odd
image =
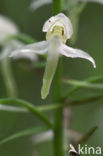
[[[73,28],[70,19],[65,16],[63,13],[60,13],[56,16],[52,16],[44,23],[43,32],[52,31],[54,26],[62,26],[64,27],[65,34],[67,36],[67,39],[69,39],[72,36]]]

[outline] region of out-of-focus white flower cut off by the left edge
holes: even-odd
[[[12,22],[9,18],[0,15],[0,45],[3,47],[2,51],[0,53],[0,60],[4,59],[5,57],[9,56],[10,53],[15,49],[15,48],[20,48],[24,44],[17,41],[17,40],[12,40],[9,41],[8,38],[11,35],[18,34],[19,30],[18,27],[14,22]],[[36,61],[37,56],[33,55],[19,55],[18,58],[29,58],[31,61]]]

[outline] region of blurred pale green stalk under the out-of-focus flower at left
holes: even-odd
[[[5,82],[6,91],[9,97],[15,98],[17,96],[16,84],[11,71],[11,64],[8,57],[1,61],[1,72]]]

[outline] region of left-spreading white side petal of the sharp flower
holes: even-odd
[[[25,56],[28,58],[32,58],[35,54],[45,54],[48,50],[48,42],[42,41],[34,44],[28,44],[23,46],[15,51],[12,52],[10,57],[13,58],[20,58],[21,56]]]

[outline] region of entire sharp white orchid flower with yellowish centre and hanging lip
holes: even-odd
[[[71,58],[84,58],[92,62],[94,68],[96,67],[93,58],[86,52],[73,49],[64,43],[72,35],[72,24],[70,20],[63,14],[60,13],[56,16],[51,17],[47,20],[43,26],[43,31],[47,32],[47,41],[41,41],[39,43],[29,44],[22,47],[21,49],[15,50],[11,57],[18,57],[23,54],[45,54],[48,52],[46,69],[43,77],[43,86],[41,89],[42,99],[45,99],[49,93],[52,79],[56,72],[59,56],[65,55]]]

